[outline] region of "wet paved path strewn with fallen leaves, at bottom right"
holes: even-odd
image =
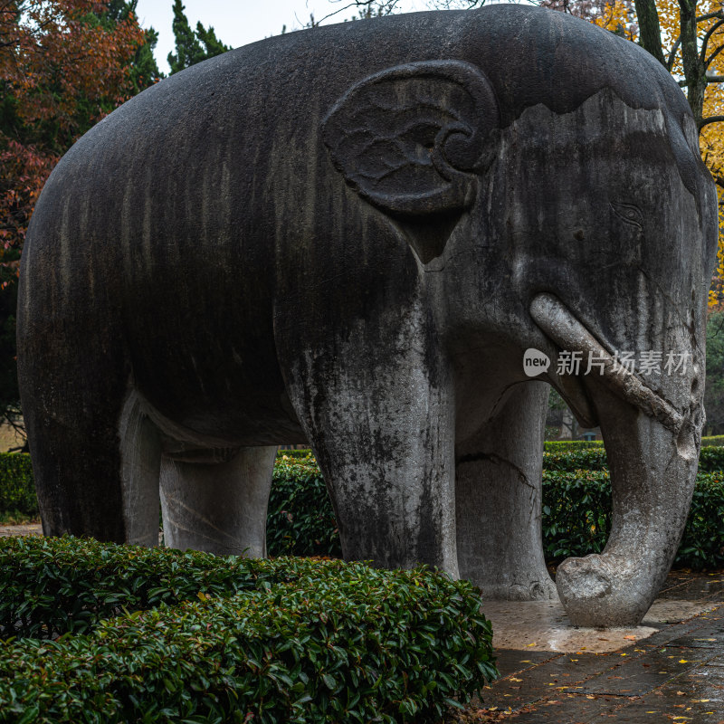
[[[523,633],[515,650],[496,650],[500,680],[460,720],[724,724],[724,572],[673,571],[658,605],[668,621],[649,620],[655,633],[607,653],[582,650],[605,631],[587,630],[581,649],[567,653],[541,651]],[[697,607],[704,612],[691,616]]]

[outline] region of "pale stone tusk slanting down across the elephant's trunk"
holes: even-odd
[[[595,355],[596,361],[603,363],[603,381],[609,389],[643,410],[645,414],[654,417],[672,433],[679,433],[684,423],[683,416],[661,395],[643,385],[637,376],[624,367],[617,366],[614,357],[611,357],[560,300],[552,294],[538,294],[530,302],[530,316],[558,346]]]

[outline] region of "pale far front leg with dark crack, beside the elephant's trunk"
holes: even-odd
[[[541,538],[541,467],[549,387],[521,383],[456,450],[460,575],[484,598],[557,598]]]

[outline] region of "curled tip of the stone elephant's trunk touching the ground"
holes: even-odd
[[[567,558],[557,568],[556,586],[574,626],[637,626],[650,605],[630,567],[610,556]]]

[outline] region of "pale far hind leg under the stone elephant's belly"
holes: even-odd
[[[171,548],[266,556],[266,512],[276,446],[245,447],[224,462],[163,456],[161,508]]]

